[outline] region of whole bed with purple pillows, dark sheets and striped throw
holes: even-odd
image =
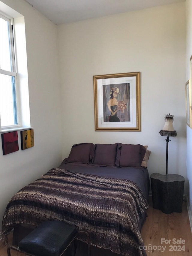
[[[149,195],[147,146],[73,145],[58,168],[16,193],[7,205],[2,239],[14,228],[13,243],[43,221],[64,220],[87,230],[93,255],[145,255],[140,230]],[[144,162],[144,163],[143,163]],[[65,256],[85,256],[80,236]]]

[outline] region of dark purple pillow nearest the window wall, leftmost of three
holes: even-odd
[[[68,163],[88,163],[91,161],[95,152],[95,145],[93,143],[80,143],[73,145],[69,157]]]

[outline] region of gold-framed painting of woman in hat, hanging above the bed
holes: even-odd
[[[141,131],[140,72],[93,76],[95,131]]]

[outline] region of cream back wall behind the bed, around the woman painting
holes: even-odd
[[[149,173],[165,174],[164,115],[175,116],[168,173],[186,178],[185,3],[58,26],[63,158],[81,142],[149,145]],[[141,72],[141,132],[94,126],[93,75]]]

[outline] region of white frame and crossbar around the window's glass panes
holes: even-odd
[[[14,129],[21,127],[20,123],[20,100],[19,100],[19,85],[17,83],[17,73],[16,73],[16,49],[14,48],[14,20],[4,14],[0,13],[0,18],[6,20],[9,24],[9,38],[10,38],[10,58],[11,58],[11,69],[12,71],[7,71],[1,69],[0,74],[13,76],[15,80],[15,98],[16,98],[16,125],[1,126],[1,113],[0,113],[0,129],[1,131],[6,129]]]

